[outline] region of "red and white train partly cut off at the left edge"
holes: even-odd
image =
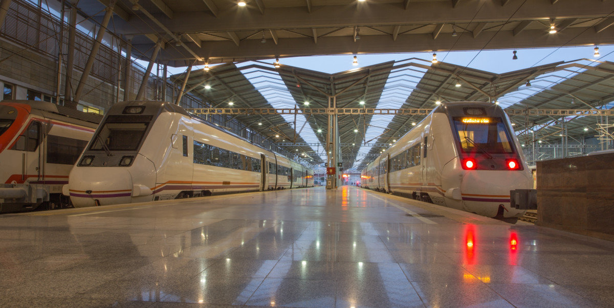
[[[102,118],[50,102],[0,102],[0,212],[69,206],[62,186]]]

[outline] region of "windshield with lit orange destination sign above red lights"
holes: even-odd
[[[502,118],[455,117],[454,128],[464,153],[513,153]]]

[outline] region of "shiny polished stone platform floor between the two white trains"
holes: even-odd
[[[356,187],[0,215],[1,307],[612,307],[614,242]]]

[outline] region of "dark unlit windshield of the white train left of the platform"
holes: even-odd
[[[141,145],[141,140],[149,123],[104,123],[90,146],[90,150],[134,151]],[[103,144],[104,142],[104,144]]]

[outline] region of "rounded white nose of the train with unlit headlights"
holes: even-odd
[[[132,177],[125,168],[74,167],[68,191],[74,207],[130,203]]]

